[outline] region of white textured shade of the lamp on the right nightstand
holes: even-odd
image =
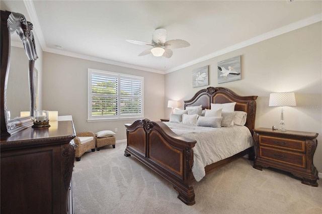
[[[296,106],[294,92],[270,93],[268,106]]]

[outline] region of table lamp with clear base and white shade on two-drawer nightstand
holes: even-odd
[[[294,92],[270,93],[268,106],[281,106],[281,122],[279,131],[286,131],[284,124],[284,106],[296,106]]]

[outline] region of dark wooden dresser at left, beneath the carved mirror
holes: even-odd
[[[1,139],[1,213],[67,213],[75,159],[72,121]]]

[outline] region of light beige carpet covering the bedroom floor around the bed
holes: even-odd
[[[177,198],[172,184],[134,157],[126,143],[87,152],[73,171],[74,213],[322,213],[322,184],[253,168],[245,158],[194,183],[196,204]]]

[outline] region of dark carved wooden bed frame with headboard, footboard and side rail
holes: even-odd
[[[208,87],[199,90],[187,106],[202,105],[210,109],[210,103],[236,102],[235,111],[247,112],[246,125],[253,135],[255,128],[257,96],[239,96],[223,87]],[[195,204],[195,193],[192,183],[193,150],[196,141],[176,135],[163,122],[152,122],[148,119],[137,120],[126,124],[127,147],[125,156],[134,156],[160,176],[170,181],[179,192],[178,198],[188,205]],[[206,174],[230,163],[231,161],[249,154],[249,159],[255,156],[254,147],[250,147],[232,157],[205,167]]]

